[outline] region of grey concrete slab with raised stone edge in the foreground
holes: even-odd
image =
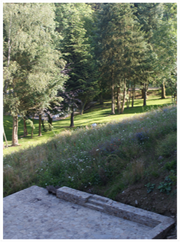
[[[4,239],[164,238],[174,220],[68,187],[32,186],[3,199]]]

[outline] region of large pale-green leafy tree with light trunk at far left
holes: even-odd
[[[4,110],[13,117],[41,113],[67,79],[56,50],[53,4],[4,3],[3,10]]]

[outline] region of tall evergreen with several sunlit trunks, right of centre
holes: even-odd
[[[102,4],[96,42],[98,64],[102,79],[111,86],[111,113],[115,114],[115,87],[117,86],[118,113],[123,113],[126,98],[126,82],[133,78],[142,62],[146,43],[140,25],[135,19],[131,4]],[[138,68],[137,68],[138,66]],[[102,85],[102,84],[101,84]],[[120,90],[123,102],[120,111]]]

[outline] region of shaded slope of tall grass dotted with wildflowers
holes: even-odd
[[[158,166],[166,147],[157,152],[159,143],[176,136],[176,111],[176,106],[164,107],[94,128],[66,130],[44,144],[12,152],[4,157],[4,196],[33,184],[85,190],[118,180],[107,194],[113,197]],[[170,155],[176,144],[172,147]]]

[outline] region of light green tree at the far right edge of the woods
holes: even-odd
[[[156,52],[156,82],[162,87],[165,98],[165,84],[176,85],[177,69],[177,4],[163,4],[163,17],[153,32],[152,45]]]

